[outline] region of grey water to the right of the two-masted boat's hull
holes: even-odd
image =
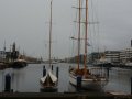
[[[130,94],[132,77],[131,72],[131,69],[112,68],[110,70],[110,81],[105,87],[106,91],[119,91]]]

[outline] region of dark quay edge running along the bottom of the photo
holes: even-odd
[[[48,92],[12,92],[0,94],[1,98],[28,98],[28,99],[132,99],[131,95],[111,95],[111,94],[48,94]]]

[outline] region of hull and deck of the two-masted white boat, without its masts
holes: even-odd
[[[81,77],[81,88],[84,89],[98,90],[98,89],[101,89],[108,82],[108,79],[105,76],[99,76],[96,74],[86,74],[86,75],[75,74],[74,70],[70,70],[69,82],[76,87],[78,85],[77,77]]]

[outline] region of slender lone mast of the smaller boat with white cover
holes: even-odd
[[[50,20],[50,68],[51,68],[51,52],[52,52],[52,1],[51,1],[51,20]]]

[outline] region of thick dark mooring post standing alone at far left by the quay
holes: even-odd
[[[10,92],[11,91],[11,76],[10,76],[10,74],[6,75],[4,91],[6,92]]]

